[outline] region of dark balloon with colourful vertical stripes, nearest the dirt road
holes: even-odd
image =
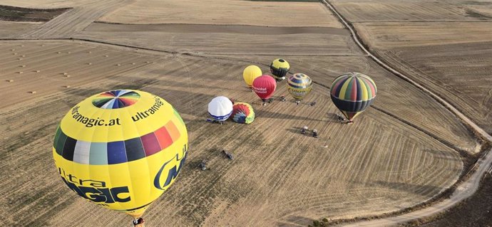
[[[330,96],[349,122],[364,111],[376,97],[376,84],[368,75],[345,73],[335,78]]]

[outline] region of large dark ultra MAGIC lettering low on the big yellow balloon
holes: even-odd
[[[84,199],[88,199],[94,203],[104,203],[99,204],[103,206],[108,206],[106,204],[113,204],[115,202],[124,203],[130,201],[128,186],[108,188],[106,187],[105,181],[80,179],[73,176],[73,174],[67,174],[60,167],[58,167],[58,171],[63,182]]]

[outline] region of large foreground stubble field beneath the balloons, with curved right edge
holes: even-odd
[[[51,158],[53,132],[65,112],[83,97],[116,88],[138,88],[160,95],[178,109],[190,133],[190,156],[185,169],[174,186],[145,213],[150,226],[305,226],[319,216],[348,218],[396,211],[431,198],[453,184],[461,173],[463,164],[456,151],[374,108],[358,117],[354,125],[340,125],[334,119],[337,110],[327,97],[328,90],[321,85],[315,85],[306,99],[316,100],[314,107],[306,102],[294,105],[290,98],[289,102],[275,101],[262,107],[242,82],[244,65],[235,60],[151,56],[98,44],[84,48],[85,42],[36,42],[44,43],[52,51],[76,53],[79,63],[89,61],[96,65],[104,61],[106,57],[91,56],[98,49],[108,53],[108,63],[116,63],[110,60],[113,55],[135,59],[132,54],[142,60],[153,58],[155,63],[111,73],[107,73],[108,66],[91,73],[84,71],[83,66],[75,66],[87,76],[108,76],[74,81],[71,88],[39,92],[35,94],[38,97],[1,109],[4,146],[0,152],[9,162],[4,162],[0,169],[10,175],[0,185],[4,191],[16,191],[0,199],[1,207],[9,207],[8,215],[0,210],[0,216],[8,217],[4,221],[9,225],[129,223],[129,218],[121,213],[78,198],[58,179]],[[26,42],[2,43],[6,44],[24,45],[30,53],[36,53],[36,48]],[[83,55],[88,50],[92,50],[91,55]],[[42,58],[48,58],[45,62],[57,59],[49,59],[48,54],[38,58],[41,62]],[[295,60],[293,63],[297,65]],[[349,66],[344,63],[332,67],[338,72]],[[41,68],[39,73],[56,78],[57,75],[49,73],[56,71],[58,68]],[[324,76],[314,76],[314,80],[331,81]],[[17,81],[27,86],[31,83],[14,83]],[[388,93],[391,82],[387,86],[381,86],[379,94]],[[276,94],[282,93],[287,93],[285,85],[280,85]],[[410,89],[409,93],[419,91]],[[206,105],[215,95],[252,102],[257,120],[253,125],[205,122]],[[375,105],[386,102],[391,100],[381,96]],[[299,134],[302,125],[317,128],[320,138]],[[237,158],[232,162],[225,159],[219,152],[221,148],[230,150]],[[209,161],[209,171],[196,167],[202,159]]]

